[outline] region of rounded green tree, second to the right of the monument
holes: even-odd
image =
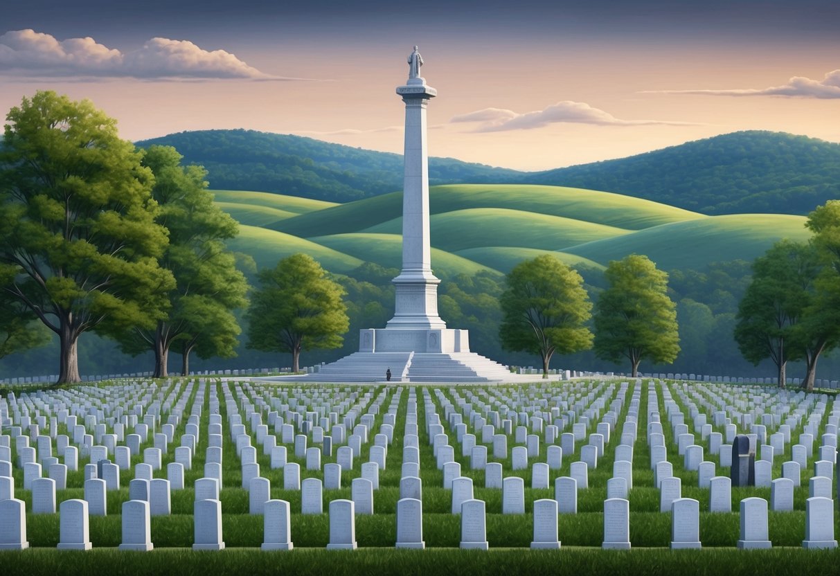
[[[629,254],[612,260],[604,276],[595,312],[595,353],[618,362],[630,360],[633,377],[638,364],[674,362],[680,353],[676,305],[668,296],[668,274],[647,256]]]

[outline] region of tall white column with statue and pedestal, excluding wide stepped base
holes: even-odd
[[[409,78],[396,93],[406,103],[405,173],[402,185],[402,271],[394,280],[396,306],[389,328],[445,328],[438,316],[438,284],[432,274],[428,216],[428,152],[426,108],[437,96],[419,76],[423,59],[414,52],[408,57]]]

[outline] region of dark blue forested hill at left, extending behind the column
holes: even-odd
[[[207,168],[212,188],[260,190],[330,202],[352,202],[402,190],[402,154],[255,130],[199,130],[143,140],[174,146],[187,164]],[[430,158],[429,183],[522,180],[524,172]]]

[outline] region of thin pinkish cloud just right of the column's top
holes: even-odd
[[[598,126],[643,126],[664,124],[688,126],[686,122],[664,122],[660,120],[622,120],[585,102],[557,102],[543,110],[516,113],[503,108],[484,108],[475,112],[455,116],[449,122],[476,122],[480,125],[475,132],[501,132],[502,130],[530,130],[543,128],[554,123],[596,124]]]

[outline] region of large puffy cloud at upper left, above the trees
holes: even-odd
[[[90,37],[59,40],[32,29],[0,35],[0,72],[30,77],[291,80],[263,74],[230,52],[203,50],[188,40],[153,38],[123,54]]]

